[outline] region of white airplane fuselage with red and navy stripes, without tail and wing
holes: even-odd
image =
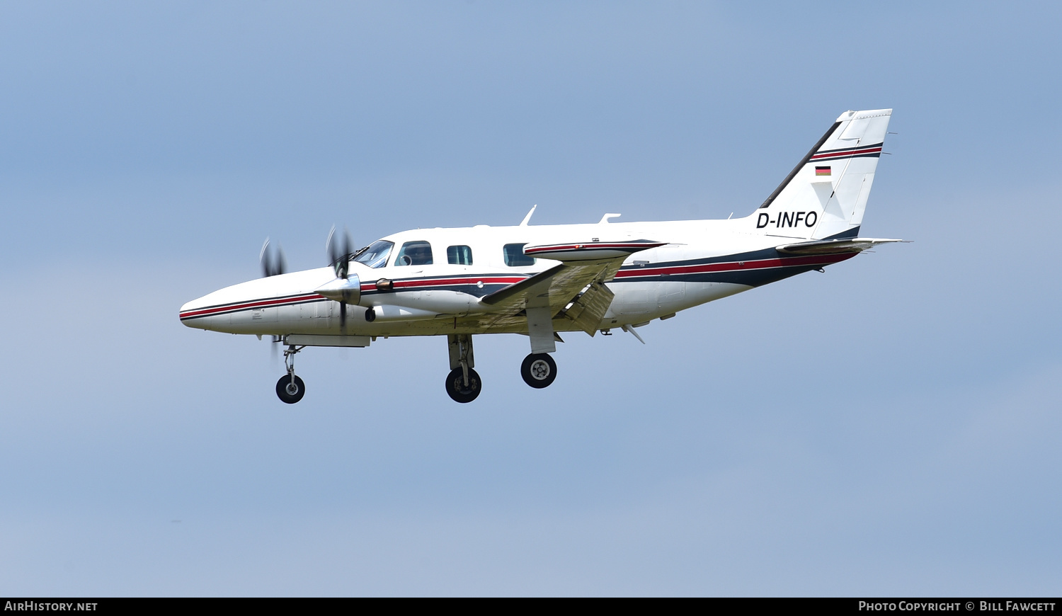
[[[742,219],[688,220],[571,225],[527,225],[407,230],[382,238],[396,249],[387,264],[370,268],[350,262],[350,273],[361,280],[361,301],[347,306],[340,325],[340,304],[315,290],[336,277],[331,268],[259,278],[221,289],[189,302],[181,312],[189,327],[269,336],[431,336],[485,333],[462,316],[482,311],[480,297],[543,272],[559,263],[535,259],[530,266],[508,266],[507,244],[556,244],[566,241],[621,241],[651,239],[666,245],[635,253],[623,261],[616,277],[606,283],[615,293],[597,329],[640,325],[713,300],[740,293],[767,283],[821,268],[854,254],[780,256],[774,247],[802,238],[741,233]],[[431,246],[431,264],[395,264],[397,246],[423,241]],[[446,262],[449,246],[467,246],[472,264]],[[442,259],[440,259],[442,257]],[[440,262],[442,261],[442,262]],[[380,279],[394,290],[375,290]],[[365,310],[375,318],[366,321]],[[187,315],[187,316],[186,316]],[[571,321],[554,320],[554,329],[577,329]],[[526,332],[518,325],[489,332]]]

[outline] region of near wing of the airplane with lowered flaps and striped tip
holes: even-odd
[[[480,313],[461,321],[476,322],[484,329],[510,328],[527,320],[528,308],[548,307],[553,319],[567,318],[593,336],[614,296],[604,284],[616,276],[623,259],[662,245],[636,240],[527,246],[525,254],[561,263],[483,296]]]

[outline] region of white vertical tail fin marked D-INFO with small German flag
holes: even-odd
[[[845,112],[764,205],[754,233],[824,239],[859,234],[892,109]]]

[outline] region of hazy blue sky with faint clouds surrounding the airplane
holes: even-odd
[[[1052,595],[1050,3],[0,2],[0,594]],[[893,107],[913,243],[569,337],[301,354],[179,306],[417,226],[725,218]]]

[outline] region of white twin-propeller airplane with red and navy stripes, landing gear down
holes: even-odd
[[[605,213],[596,224],[531,225],[535,206],[516,226],[405,230],[357,251],[332,227],[329,267],[285,273],[267,240],[262,278],[185,304],[181,322],[281,343],[276,394],[288,404],[306,393],[301,350],[401,336],[446,337],[446,393],[458,403],[482,391],[477,335],[527,336],[520,375],[546,388],[561,333],[619,329],[644,343],[635,329],[653,320],[903,241],[859,237],[891,115],[841,114],[742,218],[619,223]]]

